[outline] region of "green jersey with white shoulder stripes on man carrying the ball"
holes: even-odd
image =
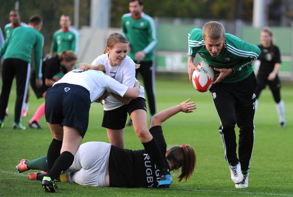
[[[196,56],[198,53],[203,60],[215,68],[231,68],[235,69],[235,73],[226,76],[221,82],[234,83],[244,80],[253,72],[253,61],[255,61],[260,49],[256,45],[252,45],[242,41],[235,35],[225,34],[224,48],[217,57],[212,57],[210,52],[205,48],[202,38],[201,29],[193,29],[188,34],[189,56]],[[219,72],[215,71],[215,76]]]

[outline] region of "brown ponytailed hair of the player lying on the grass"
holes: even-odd
[[[190,179],[196,165],[196,154],[190,145],[171,147],[167,152],[166,159],[172,163],[172,168],[175,170],[181,168],[178,182],[181,182],[182,179],[186,181]]]

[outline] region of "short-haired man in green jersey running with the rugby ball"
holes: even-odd
[[[193,63],[198,53],[215,70],[216,78],[210,91],[221,121],[219,133],[231,179],[236,188],[246,188],[255,133],[256,77],[252,63],[258,58],[260,49],[225,33],[224,27],[218,22],[208,22],[202,30],[193,29],[188,37],[190,81],[193,71],[199,71]],[[239,159],[234,130],[236,124],[240,128]]]

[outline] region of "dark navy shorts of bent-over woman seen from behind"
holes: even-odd
[[[85,136],[89,125],[90,93],[86,88],[72,84],[56,84],[45,96],[46,121],[51,124],[74,127]]]

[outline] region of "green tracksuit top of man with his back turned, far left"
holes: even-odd
[[[0,57],[5,53],[7,58],[17,58],[31,63],[32,50],[34,49],[34,65],[36,77],[41,78],[41,57],[43,55],[44,36],[32,27],[18,27],[7,37],[0,49]]]

